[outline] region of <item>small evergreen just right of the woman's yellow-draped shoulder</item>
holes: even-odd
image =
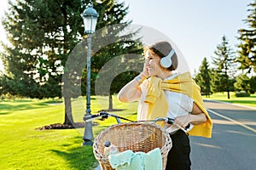
[[[211,94],[211,75],[206,57],[202,60],[195,82],[201,87],[201,93],[209,97]]]

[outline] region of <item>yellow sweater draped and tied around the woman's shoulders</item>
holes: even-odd
[[[201,111],[207,116],[207,122],[195,125],[195,127],[189,131],[189,135],[211,138],[212,120],[201,99],[201,89],[193,81],[189,72],[185,72],[172,80],[163,81],[158,77],[149,78],[148,94],[145,100],[145,102],[148,103],[148,120],[155,119],[156,117],[166,117],[168,104],[164,90],[187,94],[190,98],[194,99],[195,104],[198,105]]]

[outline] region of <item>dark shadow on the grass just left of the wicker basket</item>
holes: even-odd
[[[81,142],[81,138],[76,138],[76,144]],[[72,147],[73,144],[62,144],[63,150],[51,150],[56,155],[67,160],[67,164],[71,169],[91,170],[96,168],[96,158],[93,154],[92,146]],[[70,149],[66,150],[67,147]]]

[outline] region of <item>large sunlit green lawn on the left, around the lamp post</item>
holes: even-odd
[[[83,122],[84,99],[73,100],[75,122]],[[123,104],[114,98],[114,112],[135,118],[136,103]],[[92,114],[108,104],[108,98],[91,99]],[[93,169],[96,159],[91,146],[81,146],[84,128],[37,130],[64,122],[59,101],[19,99],[0,101],[0,169]],[[94,135],[115,123],[113,118],[93,127]]]

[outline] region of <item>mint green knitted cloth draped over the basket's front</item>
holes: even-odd
[[[162,170],[162,156],[159,148],[133,152],[125,150],[117,154],[109,155],[109,163],[116,170]]]

